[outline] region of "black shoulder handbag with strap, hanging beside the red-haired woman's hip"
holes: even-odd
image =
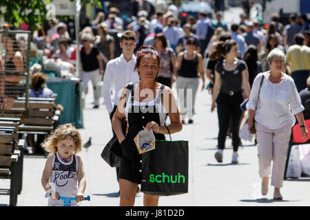
[[[127,86],[125,104],[127,103],[128,95],[129,95],[130,90],[132,89],[132,85],[133,83],[130,83]],[[122,129],[123,129],[123,133],[125,133],[127,129],[127,121],[125,119],[125,116],[122,120]],[[123,155],[123,152],[122,152],[121,144],[119,144],[117,136],[113,135],[111,140],[107,142],[107,144],[103,148],[103,151],[101,152],[101,157],[111,167],[119,167],[121,166],[122,155]]]

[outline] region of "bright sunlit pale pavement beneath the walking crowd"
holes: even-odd
[[[89,88],[92,88],[91,86]],[[201,88],[201,85],[200,85]],[[110,168],[101,151],[112,136],[110,118],[104,105],[92,109],[92,91],[86,97],[83,111],[84,129],[80,129],[83,141],[92,137],[92,146],[80,153],[85,166],[87,186],[85,195],[91,201],[82,206],[118,206],[118,183],[115,168]],[[102,103],[102,101],[101,101]],[[243,142],[240,146],[238,165],[231,165],[231,140],[227,138],[222,164],[214,158],[217,144],[218,120],[211,113],[211,96],[198,91],[194,124],[185,124],[173,140],[189,140],[189,192],[186,195],[161,197],[160,206],[309,206],[310,179],[300,178],[284,182],[283,201],[273,201],[273,188],[269,186],[267,197],[260,195],[257,146]],[[26,156],[23,170],[23,190],[17,206],[46,206],[45,192],[41,186],[41,174],[46,158]],[[269,181],[270,182],[270,181]],[[0,206],[9,203],[9,196],[1,189],[9,188],[8,179],[0,179]],[[136,206],[143,206],[143,193],[136,196]]]

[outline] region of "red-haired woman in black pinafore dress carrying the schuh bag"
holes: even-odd
[[[167,127],[170,133],[182,130],[180,113],[172,90],[156,82],[159,72],[160,58],[154,47],[142,46],[137,52],[136,69],[141,78],[135,83],[127,103],[125,90],[118,104],[112,124],[118,141],[121,143],[123,156],[119,172],[121,191],[120,206],[134,206],[136,189],[141,184],[142,155],[138,153],[134,137],[143,129],[154,132],[156,140],[165,140],[168,133],[164,126],[168,114],[171,124]],[[126,116],[128,122],[127,134],[122,131],[121,120]],[[158,206],[158,196],[144,195],[144,206]]]

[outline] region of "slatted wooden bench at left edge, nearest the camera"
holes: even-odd
[[[10,206],[17,205],[23,178],[23,142],[13,126],[0,127],[0,178],[10,179]]]

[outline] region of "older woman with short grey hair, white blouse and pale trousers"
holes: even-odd
[[[294,81],[281,71],[285,64],[285,54],[281,50],[274,49],[267,59],[270,70],[258,74],[251,89],[247,103],[248,124],[251,128],[255,119],[262,195],[267,195],[268,192],[268,176],[271,174],[271,161],[273,161],[271,175],[271,185],[275,187],[273,199],[282,199],[280,188],[283,185],[291,127],[296,122],[294,115],[300,123],[304,139],[307,138],[308,131],[302,115],[304,107]]]

